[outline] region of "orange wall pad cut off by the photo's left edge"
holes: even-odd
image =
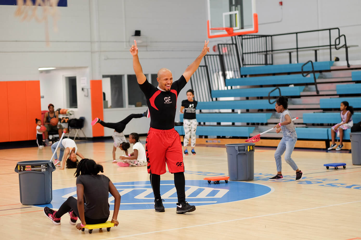
[[[8,106],[8,82],[0,82],[0,142],[10,141],[9,131],[9,106]]]

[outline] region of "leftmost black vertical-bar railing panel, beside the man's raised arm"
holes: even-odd
[[[207,66],[199,66],[191,77],[191,88],[196,101],[213,101]]]

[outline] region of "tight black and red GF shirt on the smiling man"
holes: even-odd
[[[177,109],[177,97],[179,92],[186,86],[187,81],[183,75],[172,83],[170,91],[157,89],[148,80],[139,84],[140,90],[147,99],[147,106],[151,115],[152,128],[169,130],[174,128],[175,111]]]

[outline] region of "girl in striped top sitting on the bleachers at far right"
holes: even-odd
[[[341,116],[341,122],[336,124],[335,126],[331,127],[331,137],[332,137],[332,144],[327,150],[331,150],[335,148],[335,135],[337,132],[337,136],[340,137],[340,144],[337,146],[336,151],[339,151],[342,149],[343,144],[343,130],[346,130],[347,128],[351,128],[353,126],[352,121],[352,114],[353,114],[353,107],[348,105],[348,101],[343,101],[340,104],[340,116]]]

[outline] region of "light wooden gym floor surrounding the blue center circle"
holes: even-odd
[[[78,149],[85,157],[100,162],[104,174],[114,183],[149,181],[146,167],[118,167],[112,164],[109,161],[112,159],[112,144],[110,140],[81,141],[78,142]],[[240,201],[227,202],[225,199],[219,204],[200,205],[195,212],[187,214],[176,214],[175,204],[163,213],[156,213],[152,208],[120,210],[118,227],[111,228],[110,232],[95,229],[89,234],[70,225],[68,215],[64,215],[61,225],[56,226],[44,216],[42,208],[20,203],[18,173],[14,172],[16,163],[50,159],[50,147],[40,150],[37,147],[0,150],[1,239],[361,238],[361,166],[352,165],[351,154],[348,151],[326,153],[296,149],[292,158],[303,171],[304,178],[299,182],[293,181],[295,172],[283,160],[282,172],[286,179],[276,182],[267,180],[276,173],[274,151],[275,148],[257,148],[256,145],[255,180],[246,184],[251,188],[256,185],[263,188],[268,186],[268,194]],[[208,184],[204,177],[219,173],[228,175],[224,146],[197,146],[196,152],[197,155],[184,156],[186,180],[201,180],[198,182]],[[117,150],[117,156],[121,154]],[[338,170],[323,167],[324,163],[334,162],[345,162],[347,167]],[[74,172],[75,169],[56,169],[53,172],[53,190],[74,187]],[[173,176],[166,173],[161,180],[173,180]],[[209,186],[228,189],[242,183],[230,181],[226,184],[221,181],[220,184],[212,183]],[[238,192],[230,194],[242,198],[248,194],[248,189],[242,190],[241,187]],[[229,188],[229,191],[232,189]],[[187,200],[191,203],[194,199]],[[112,216],[112,211],[110,214]]]

